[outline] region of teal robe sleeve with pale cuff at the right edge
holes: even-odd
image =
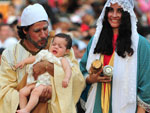
[[[150,112],[150,44],[142,36],[139,38],[137,68],[138,105]]]

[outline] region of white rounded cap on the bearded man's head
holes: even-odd
[[[39,21],[47,21],[48,15],[42,5],[36,3],[27,6],[21,15],[21,26],[29,26]]]

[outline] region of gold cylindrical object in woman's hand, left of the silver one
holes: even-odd
[[[93,63],[91,64],[91,67],[90,67],[90,71],[89,73],[90,74],[95,74],[97,73],[98,71],[100,71],[102,68],[102,63],[100,60],[96,59],[95,61],[93,61]]]

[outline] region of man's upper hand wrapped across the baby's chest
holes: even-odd
[[[49,61],[40,61],[33,66],[33,76],[35,80],[40,74],[48,72],[50,75],[54,75],[54,64]]]

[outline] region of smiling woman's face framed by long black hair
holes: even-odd
[[[118,28],[121,22],[122,8],[117,3],[111,4],[108,12],[108,22],[113,28],[114,33],[118,33]]]

